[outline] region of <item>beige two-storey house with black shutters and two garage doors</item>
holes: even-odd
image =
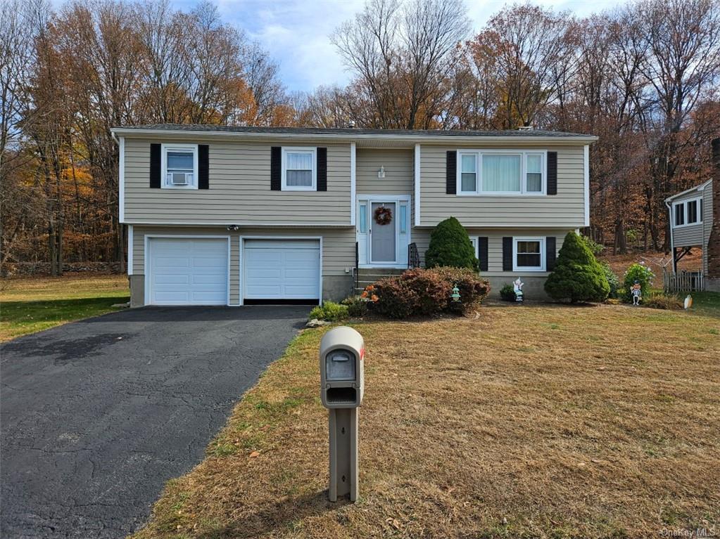
[[[318,303],[423,262],[465,226],[495,293],[544,295],[568,231],[588,226],[596,137],[147,125],[112,129],[133,306]]]

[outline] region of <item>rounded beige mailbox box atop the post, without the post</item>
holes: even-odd
[[[326,408],[355,408],[362,404],[364,390],[360,333],[341,326],[325,333],[320,341],[320,399]]]

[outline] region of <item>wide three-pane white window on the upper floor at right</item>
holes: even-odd
[[[545,153],[459,151],[459,195],[544,195]]]

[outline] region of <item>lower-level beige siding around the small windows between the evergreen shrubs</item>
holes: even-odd
[[[562,247],[562,241],[565,238],[565,234],[570,230],[557,230],[557,229],[507,229],[507,230],[483,230],[483,229],[467,229],[467,235],[471,238],[477,238],[479,236],[487,237],[487,272],[482,272],[482,275],[495,275],[495,276],[508,276],[515,277],[518,275],[533,276],[533,277],[546,277],[549,272],[504,272],[503,271],[503,237],[524,237],[524,238],[546,238],[547,236],[555,236],[555,249],[557,252]],[[413,229],[413,240],[418,246],[418,252],[420,253],[420,260],[425,264],[425,252],[430,244],[430,230],[429,229]]]

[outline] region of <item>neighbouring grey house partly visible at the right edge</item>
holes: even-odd
[[[712,141],[713,176],[665,199],[670,221],[672,273],[693,247],[703,249],[706,290],[720,292],[720,138]]]

